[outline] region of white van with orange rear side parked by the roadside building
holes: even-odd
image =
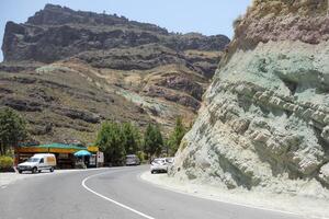
[[[42,172],[43,170],[49,170],[54,172],[56,166],[56,157],[53,153],[36,153],[31,157],[24,163],[18,165],[19,173],[23,171],[32,171],[32,173]]]

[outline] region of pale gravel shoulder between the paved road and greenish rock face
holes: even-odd
[[[329,201],[325,199],[297,197],[287,194],[259,193],[245,189],[228,191],[208,185],[193,184],[191,182],[179,182],[173,177],[169,177],[167,174],[150,174],[149,172],[143,173],[140,178],[162,188],[201,198],[252,208],[291,212],[308,219],[329,219]]]

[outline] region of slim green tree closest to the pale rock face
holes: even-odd
[[[174,155],[174,153],[179,149],[181,141],[185,134],[186,134],[186,129],[182,123],[182,118],[177,117],[173,132],[170,135],[169,141],[168,141],[168,143],[170,146],[171,155]]]

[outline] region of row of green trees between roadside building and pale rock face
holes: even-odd
[[[122,165],[126,154],[136,154],[141,162],[159,157],[163,152],[164,145],[166,155],[174,155],[185,132],[186,128],[181,117],[177,118],[175,127],[166,143],[159,125],[148,124],[141,138],[138,128],[132,123],[104,122],[95,145],[104,152],[106,163]]]

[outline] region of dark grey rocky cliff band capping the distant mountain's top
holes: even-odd
[[[135,47],[157,43],[174,50],[223,50],[226,36],[172,34],[154,24],[124,16],[73,11],[47,4],[26,23],[8,22],[3,37],[5,61],[53,62],[92,49]]]

